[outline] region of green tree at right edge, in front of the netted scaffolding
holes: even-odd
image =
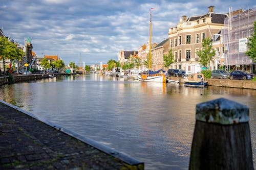
[[[249,40],[247,42],[249,50],[245,52],[247,56],[250,57],[254,62],[256,62],[256,21],[253,23],[254,25],[254,33],[251,35],[251,37],[248,37]]]

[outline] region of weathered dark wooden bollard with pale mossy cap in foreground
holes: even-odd
[[[253,169],[247,106],[223,98],[197,105],[189,169]]]

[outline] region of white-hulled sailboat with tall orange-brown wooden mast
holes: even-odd
[[[151,9],[152,10],[152,9]],[[152,14],[150,10],[150,52],[149,52],[149,61],[148,61],[148,71],[146,74],[138,74],[137,78],[139,81],[144,82],[162,82],[166,83],[166,77],[162,72],[162,69],[157,71],[151,71],[151,37],[152,37]]]

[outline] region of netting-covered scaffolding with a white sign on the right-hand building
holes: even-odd
[[[252,60],[245,55],[245,52],[248,50],[247,37],[254,33],[253,22],[256,20],[256,9],[232,12],[230,7],[228,15],[229,17],[224,21],[224,29],[221,31],[225,46],[226,69],[230,66],[252,65]]]

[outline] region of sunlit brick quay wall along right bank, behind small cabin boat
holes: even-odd
[[[179,81],[184,83],[183,78],[168,77],[170,80]],[[230,79],[205,79],[209,86],[219,87],[232,87],[232,88],[245,88],[245,89],[256,89],[256,81],[252,80],[230,80]]]

